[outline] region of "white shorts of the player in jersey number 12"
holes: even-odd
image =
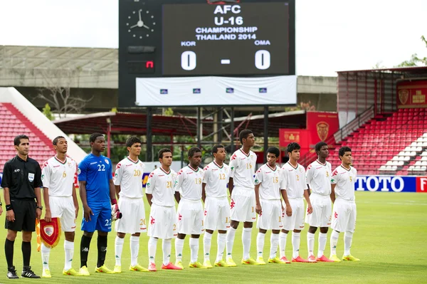
[[[206,230],[226,231],[230,228],[230,204],[227,197],[206,197],[204,227]]]

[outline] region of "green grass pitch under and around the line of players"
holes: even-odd
[[[3,261],[0,262],[1,283],[426,283],[427,276],[427,194],[414,193],[385,193],[385,192],[357,192],[357,225],[354,233],[352,255],[360,258],[359,263],[291,263],[286,265],[267,264],[260,266],[238,265],[236,268],[194,269],[186,267],[182,271],[157,270],[154,273],[139,273],[128,271],[130,265],[129,236],[125,238],[122,254],[123,273],[106,275],[94,273],[97,257],[96,233],[90,246],[88,266],[90,276],[72,277],[63,276],[63,236],[60,244],[51,251],[50,268],[51,279],[19,279],[6,278],[6,259],[3,251],[3,241],[6,230],[1,230],[0,240]],[[147,219],[149,206],[146,205]],[[73,267],[80,265],[80,236],[81,220],[78,220],[78,230],[75,238],[75,255]],[[43,215],[42,215],[43,217]],[[0,221],[4,223],[5,213]],[[255,227],[255,226],[254,226]],[[242,255],[241,226],[236,233],[233,258],[240,263]],[[251,256],[255,258],[256,234],[254,228],[251,243]],[[301,233],[300,255],[307,257],[307,226]],[[337,247],[338,256],[343,253],[343,233],[339,236]],[[329,256],[330,233],[328,233],[325,255]],[[115,233],[108,238],[106,264],[109,268],[115,265],[114,259]],[[270,250],[270,233],[265,236],[264,258],[268,258]],[[138,261],[147,267],[147,234],[142,234]],[[184,246],[184,265],[189,263],[189,239]],[[36,251],[36,235],[33,234],[31,265],[33,270],[41,275],[41,254]],[[317,233],[316,247],[317,253]],[[286,255],[292,256],[291,238],[288,237]],[[212,240],[211,262],[216,256],[216,233]],[[172,262],[174,257],[174,242],[172,242]],[[162,263],[162,241],[157,247],[157,268]],[[203,241],[200,240],[199,261],[203,261]],[[21,234],[15,242],[14,264],[21,275]]]

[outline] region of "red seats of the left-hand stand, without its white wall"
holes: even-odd
[[[16,155],[14,137],[25,134],[30,138],[29,157],[42,163],[55,154],[51,141],[10,102],[0,102],[0,172],[4,163]]]

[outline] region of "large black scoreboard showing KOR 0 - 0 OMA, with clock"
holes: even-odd
[[[119,106],[137,78],[295,75],[295,0],[119,1]]]

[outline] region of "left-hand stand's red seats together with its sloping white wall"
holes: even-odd
[[[29,157],[40,164],[55,154],[53,138],[68,138],[15,88],[0,88],[0,122],[0,172],[3,172],[4,163],[16,154],[13,141],[17,135],[25,134],[30,138]],[[68,139],[68,155],[80,162],[86,153]]]

